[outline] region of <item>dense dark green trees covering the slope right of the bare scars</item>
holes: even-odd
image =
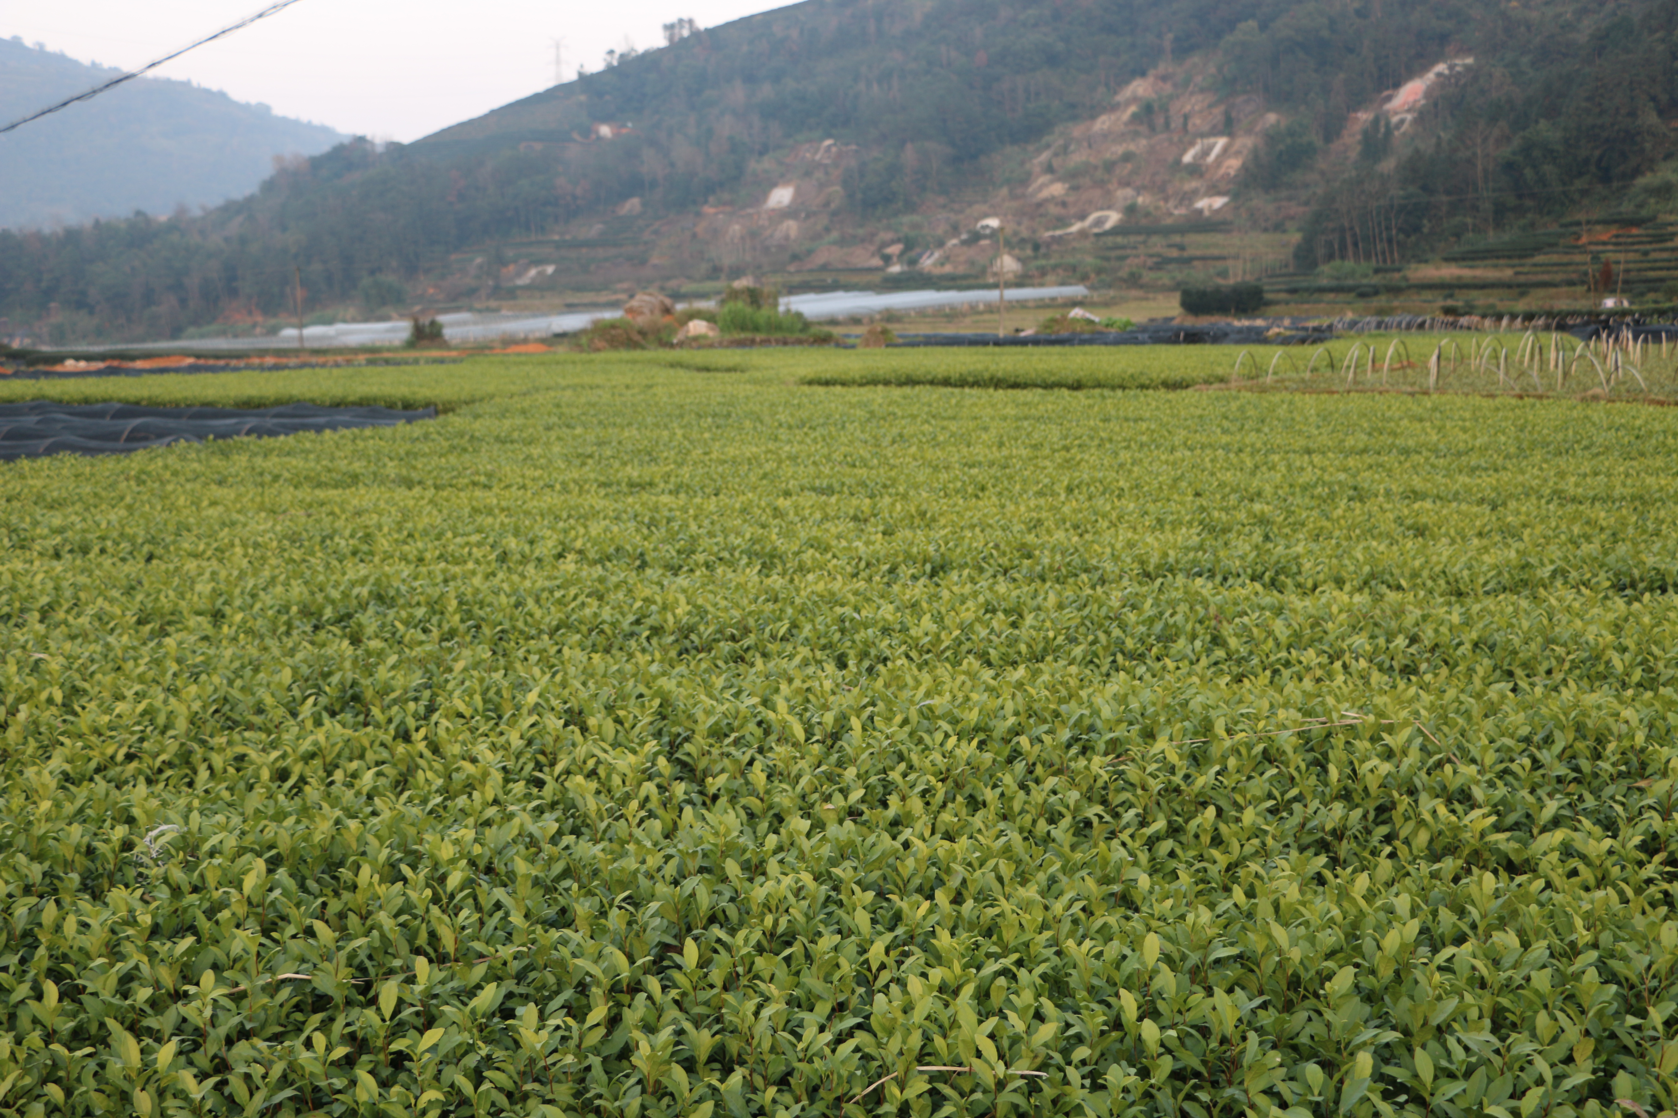
[[[1352,166],[1317,186],[1297,267],[1396,263],[1581,211],[1678,210],[1678,7],[1503,7],[1482,42],[1425,109],[1425,139],[1366,129]]]

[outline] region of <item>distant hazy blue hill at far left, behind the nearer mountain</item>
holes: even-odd
[[[0,39],[0,117],[13,121],[117,75]],[[138,79],[0,136],[0,226],[42,228],[240,198],[275,156],[344,136],[188,82]]]

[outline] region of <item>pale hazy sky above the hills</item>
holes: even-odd
[[[265,7],[263,0],[0,0],[0,37],[134,69]],[[774,0],[300,0],[153,70],[376,139],[413,141],[601,69],[624,40],[664,42],[680,17],[717,27]],[[112,92],[107,96],[119,96]],[[69,109],[74,112],[74,109]]]

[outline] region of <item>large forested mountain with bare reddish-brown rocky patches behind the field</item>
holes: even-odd
[[[1396,114],[1391,91],[1448,59],[1472,65]],[[535,241],[560,261],[643,246],[599,272],[623,282],[884,267],[906,256],[874,245],[941,245],[993,204],[1032,236],[1076,206],[1227,204],[1300,228],[1311,267],[1374,238],[1394,256],[1579,206],[1678,208],[1675,119],[1670,0],[805,0],[414,144],[339,146],[205,216],[0,233],[0,313],[168,335],[284,312],[294,267],[312,307],[438,303],[519,282]],[[1212,132],[1243,154],[1146,146]]]

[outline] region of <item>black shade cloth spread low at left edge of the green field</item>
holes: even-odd
[[[297,434],[300,431],[342,431],[346,427],[394,427],[414,419],[431,419],[435,407],[394,411],[389,407],[141,407],[138,404],[55,404],[29,401],[0,404],[0,461],[42,454],[126,454],[148,446],[203,443]]]

